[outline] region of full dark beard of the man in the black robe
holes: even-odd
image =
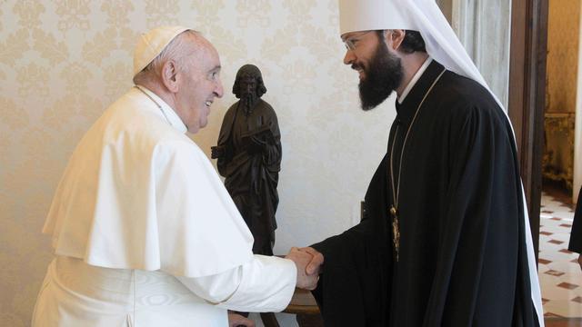
[[[368,67],[356,64],[352,67],[364,69],[365,77],[360,80],[358,87],[362,109],[366,111],[382,104],[402,83],[403,70],[400,58],[390,54],[384,42],[380,42],[376,47],[376,54]]]

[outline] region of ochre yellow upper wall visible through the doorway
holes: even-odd
[[[547,110],[576,110],[580,0],[550,0],[547,24]]]

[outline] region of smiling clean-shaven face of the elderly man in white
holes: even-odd
[[[220,59],[214,46],[205,40],[182,63],[178,73],[180,86],[176,93],[176,113],[186,124],[188,132],[194,134],[208,124],[210,105],[224,93],[220,81]]]

